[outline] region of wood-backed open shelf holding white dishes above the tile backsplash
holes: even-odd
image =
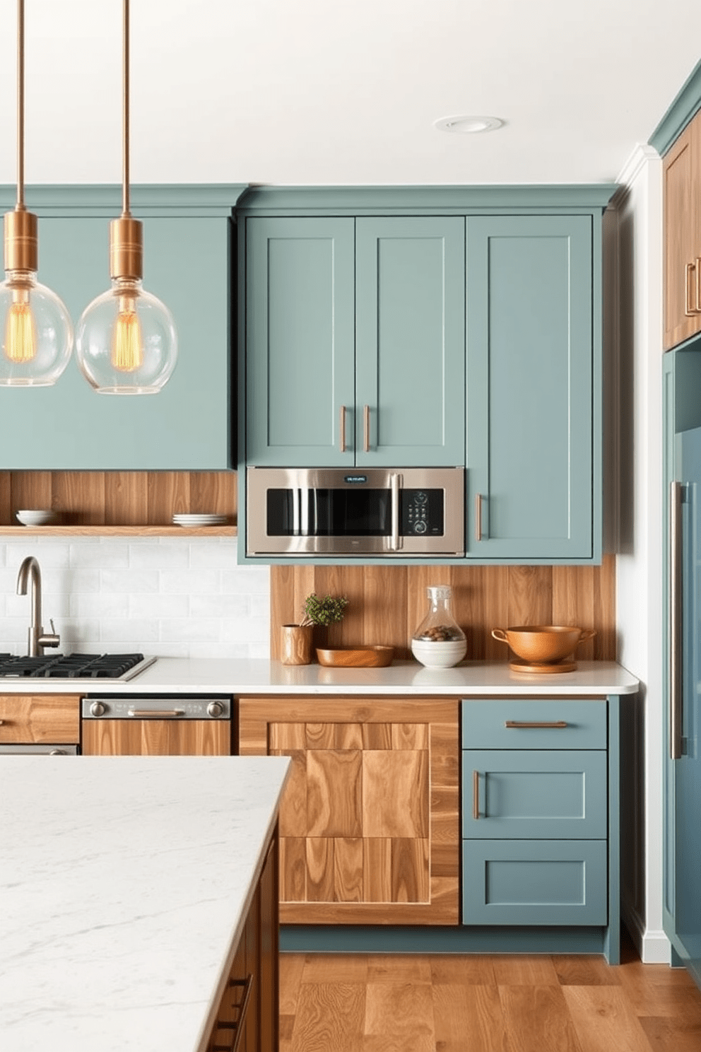
[[[22,526],[22,508],[50,508],[56,525]],[[176,526],[174,513],[227,515],[222,526]],[[0,471],[0,534],[235,537],[235,471]]]

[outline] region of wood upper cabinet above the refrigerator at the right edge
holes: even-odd
[[[662,163],[664,195],[664,349],[701,331],[701,118]]]

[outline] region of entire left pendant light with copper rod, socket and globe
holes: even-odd
[[[0,385],[47,387],[70,358],[65,305],[37,281],[38,222],[24,205],[24,0],[17,2],[17,204],[4,217],[5,280],[0,284]]]

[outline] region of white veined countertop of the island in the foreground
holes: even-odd
[[[194,1052],[286,757],[0,757],[2,1052]]]

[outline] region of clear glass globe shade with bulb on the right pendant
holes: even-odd
[[[178,361],[172,315],[140,280],[116,278],[81,315],[76,358],[102,394],[158,394]]]

